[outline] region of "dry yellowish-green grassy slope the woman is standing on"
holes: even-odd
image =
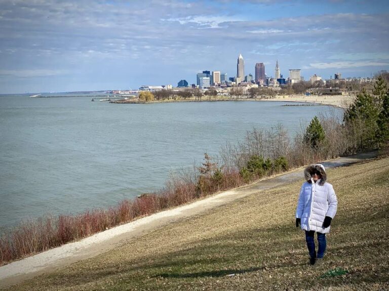
[[[389,289],[389,158],[328,177],[339,204],[321,266],[309,266],[304,233],[294,225],[301,179],[11,289]]]

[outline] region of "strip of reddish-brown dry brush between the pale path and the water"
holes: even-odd
[[[123,200],[106,210],[87,209],[79,215],[45,216],[25,221],[10,233],[0,235],[0,266],[244,184],[237,171],[223,174],[222,179],[217,182],[210,176],[204,177],[207,187],[203,191],[199,191],[196,181],[188,178],[190,175],[169,179],[166,187],[158,193]]]

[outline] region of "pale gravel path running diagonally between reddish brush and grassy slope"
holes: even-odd
[[[376,156],[377,152],[371,152],[351,157],[337,158],[328,162],[323,162],[322,164],[326,168],[341,167],[362,160],[373,159]],[[303,168],[259,181],[248,186],[228,190],[191,204],[162,211],[96,233],[90,237],[76,241],[75,243],[66,244],[56,249],[10,263],[0,267],[0,287],[10,286],[36,275],[51,272],[74,262],[94,257],[125,244],[128,239],[136,238],[152,229],[162,227],[171,222],[204,213],[207,210],[228,204],[234,200],[246,197],[261,190],[275,188],[299,180],[303,181]]]

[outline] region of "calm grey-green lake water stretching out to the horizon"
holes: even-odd
[[[0,96],[0,230],[46,213],[116,205],[247,130],[290,132],[326,106],[283,102],[109,104]]]

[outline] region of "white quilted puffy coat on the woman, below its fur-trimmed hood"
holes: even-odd
[[[321,233],[330,231],[330,226],[323,228],[326,216],[334,218],[338,201],[330,183],[311,178],[301,186],[298,198],[296,218],[301,218],[301,229]]]

